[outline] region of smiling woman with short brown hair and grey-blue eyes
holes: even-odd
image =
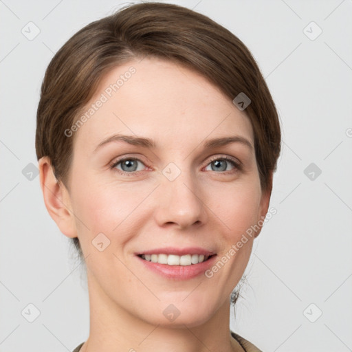
[[[87,266],[74,352],[260,351],[230,331],[230,303],[280,147],[259,67],[208,17],[140,3],[72,36],[45,73],[36,153]]]

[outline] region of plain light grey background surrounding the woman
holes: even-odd
[[[248,45],[282,122],[277,214],[254,242],[232,330],[264,352],[352,351],[352,1],[173,2]],[[52,56],[121,3],[0,1],[1,352],[72,351],[87,339],[82,266],[25,167],[37,165],[36,107]],[[30,21],[40,30],[32,41],[21,32],[35,33]],[[311,163],[320,175],[305,172]],[[21,313],[34,314],[30,303],[34,322]]]

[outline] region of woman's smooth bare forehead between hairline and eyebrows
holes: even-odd
[[[111,69],[83,114],[86,122],[76,138],[88,149],[113,133],[152,137],[175,146],[194,144],[207,135],[237,134],[253,141],[248,116],[218,87],[197,72],[157,58]]]

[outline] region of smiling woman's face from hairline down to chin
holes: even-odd
[[[250,120],[203,76],[155,58],[112,69],[86,111],[72,129],[65,234],[87,257],[91,300],[201,325],[228,307],[267,212]]]

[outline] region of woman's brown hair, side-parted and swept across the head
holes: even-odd
[[[126,5],[79,30],[47,67],[36,115],[36,156],[50,157],[56,179],[69,190],[75,133],[65,130],[78,120],[113,67],[144,56],[182,64],[199,72],[233,100],[244,93],[254,130],[261,188],[270,189],[281,151],[278,113],[265,80],[248,48],[208,17],[168,3]],[[74,245],[83,257],[78,238]]]

